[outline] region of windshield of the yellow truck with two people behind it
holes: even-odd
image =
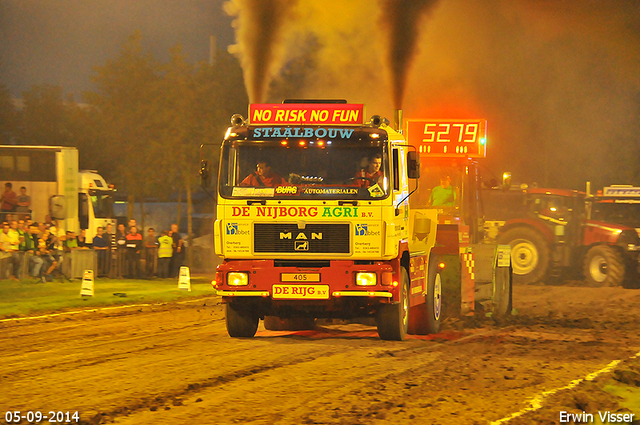
[[[381,199],[388,177],[382,141],[230,141],[219,187],[228,198]]]

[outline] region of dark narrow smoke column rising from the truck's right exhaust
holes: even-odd
[[[388,32],[387,65],[394,109],[402,108],[407,75],[417,52],[420,24],[437,0],[380,0],[380,23]]]

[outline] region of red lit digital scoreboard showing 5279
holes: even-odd
[[[407,120],[407,141],[420,155],[439,158],[484,158],[486,120]]]

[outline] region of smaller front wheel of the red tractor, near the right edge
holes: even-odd
[[[584,276],[589,286],[618,286],[624,281],[624,258],[615,248],[596,245],[587,251]]]

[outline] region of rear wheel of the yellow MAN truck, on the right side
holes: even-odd
[[[432,256],[429,261],[425,302],[411,307],[409,333],[415,335],[437,334],[440,332],[441,315],[442,278],[438,267],[438,259]]]

